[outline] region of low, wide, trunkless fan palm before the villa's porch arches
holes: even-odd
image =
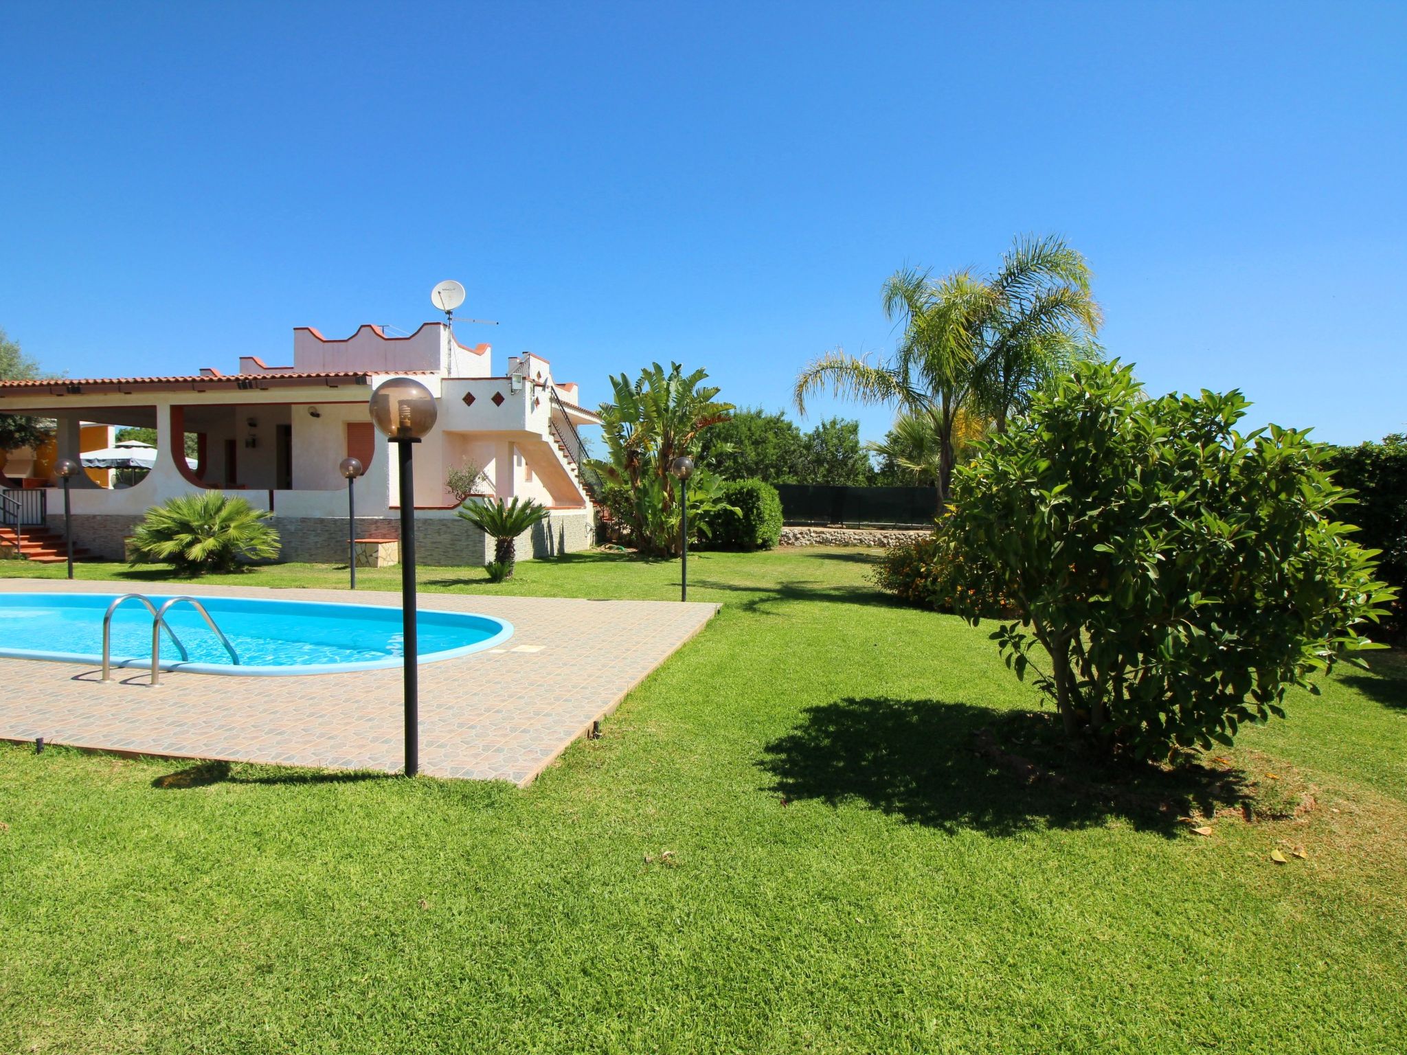
[[[267,523],[270,516],[222,491],[172,498],[148,509],[136,525],[132,563],[146,557],[198,575],[234,571],[241,561],[273,560],[279,556],[279,532]]]

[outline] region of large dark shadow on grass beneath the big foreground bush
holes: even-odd
[[[809,708],[758,765],[788,800],[860,802],[944,831],[1013,836],[1120,817],[1173,836],[1193,810],[1242,806],[1240,772],[1092,762],[1052,715],[967,703],[847,698]]]

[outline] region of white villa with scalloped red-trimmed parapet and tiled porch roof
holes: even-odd
[[[528,352],[495,373],[490,346],[459,343],[445,322],[426,322],[402,338],[366,325],[343,340],[298,326],[291,366],[241,356],[234,374],[205,367],[174,377],[3,381],[0,414],[51,418],[58,428],[52,450],[10,453],[0,535],[13,542],[18,518],[23,530],[52,540],[63,528],[55,460],[79,460],[111,443],[114,428],[139,426],[156,430],[156,454],[138,484],[113,487],[108,474],[96,471],[70,481],[73,542],[87,553],[121,560],[124,540],[148,508],[221,488],[274,515],[281,560],[343,561],[348,482],[338,467],[345,457],[366,468],[356,481],[356,537],[394,542],[395,459],[367,414],[371,391],[393,377],[426,385],[439,409],[415,450],[422,563],[487,558],[483,533],[454,516],[457,502],[446,488],[447,474],[467,464],[483,470],[478,487],[485,495],[530,498],[550,509],[522,540],[532,556],[592,543],[595,509],[581,477],[585,450],[577,429],[599,419],[580,405],[577,385],[556,381],[549,362]]]

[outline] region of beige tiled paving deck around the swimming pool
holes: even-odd
[[[122,594],[121,582],[0,580],[3,592]],[[172,592],[163,585],[153,592]],[[194,596],[356,601],[398,594],[182,585]],[[421,594],[419,608],[481,612],[515,627],[499,648],[422,664],[421,772],[529,784],[718,605]],[[402,768],[401,670],[249,678],[0,658],[0,738],[348,769]]]

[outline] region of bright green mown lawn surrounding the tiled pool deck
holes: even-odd
[[[691,557],[723,612],[526,791],[0,747],[0,1049],[1407,1049],[1393,656],[1233,753],[1313,784],[1304,820],[1199,837],[1155,806],[1182,785],[976,754],[1057,748],[988,627],[886,603],[870,560]],[[422,584],[678,589],[677,563],[519,568]]]

